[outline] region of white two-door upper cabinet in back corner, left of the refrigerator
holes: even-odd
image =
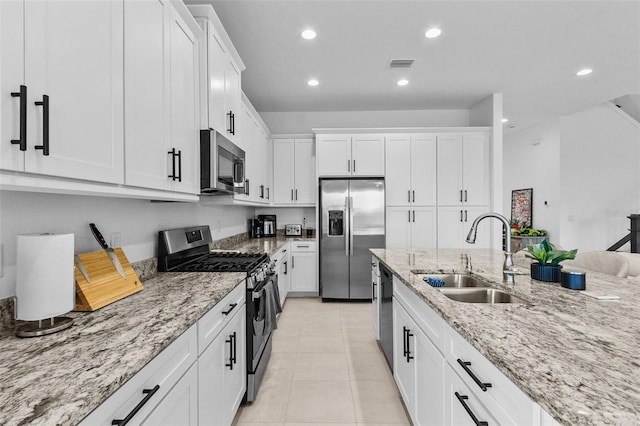
[[[273,140],[273,187],[274,204],[315,204],[315,146],[312,138]]]

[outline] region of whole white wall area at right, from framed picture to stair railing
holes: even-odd
[[[639,164],[640,125],[598,105],[505,136],[505,201],[533,188],[533,224],[552,242],[606,250],[639,212]]]

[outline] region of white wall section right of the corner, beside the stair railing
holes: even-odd
[[[640,212],[640,126],[609,103],[561,123],[560,244],[606,250]]]

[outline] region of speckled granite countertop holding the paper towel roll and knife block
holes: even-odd
[[[73,425],[237,285],[244,273],[161,273],[45,337],[0,332],[0,424]]]

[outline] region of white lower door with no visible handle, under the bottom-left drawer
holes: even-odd
[[[195,364],[141,424],[148,426],[198,425],[198,368]]]

